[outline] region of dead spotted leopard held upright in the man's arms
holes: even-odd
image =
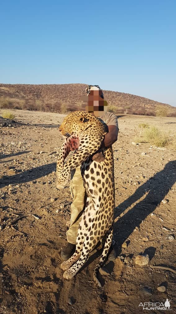
[[[97,276],[105,263],[113,237],[115,187],[112,146],[101,149],[105,157],[101,162],[94,161],[92,155],[100,149],[108,127],[92,113],[74,111],[64,118],[59,130],[64,142],[57,160],[56,187],[63,189],[68,184],[70,172],[80,166],[87,196],[79,224],[75,253],[61,263],[60,267],[64,270],[65,279],[73,278],[86,263],[99,241],[104,238],[105,245],[93,272],[96,286],[101,287]],[[65,161],[71,151],[71,157]]]

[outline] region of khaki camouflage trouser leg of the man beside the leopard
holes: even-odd
[[[83,186],[80,166],[75,169],[75,174],[70,182],[70,192],[73,203],[71,204],[70,228],[66,232],[66,235],[69,243],[76,244],[81,215],[86,205],[86,193]]]

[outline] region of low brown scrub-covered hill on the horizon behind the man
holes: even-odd
[[[80,99],[85,95],[86,86],[86,84],[0,84],[0,107],[61,113],[84,109],[84,103]],[[103,92],[109,111],[155,116],[156,109],[163,107],[167,110],[167,116],[176,116],[176,108],[168,104],[111,90]]]

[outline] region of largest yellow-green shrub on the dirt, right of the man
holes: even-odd
[[[163,135],[157,127],[146,129],[144,133],[144,139],[146,142],[154,144],[158,147],[164,147],[168,144],[168,137]]]

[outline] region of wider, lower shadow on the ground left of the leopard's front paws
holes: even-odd
[[[48,165],[42,165],[33,169],[29,169],[14,176],[3,176],[0,179],[0,187],[5,187],[8,184],[18,184],[34,181],[38,178],[48,175],[52,171],[56,170],[56,162]]]

